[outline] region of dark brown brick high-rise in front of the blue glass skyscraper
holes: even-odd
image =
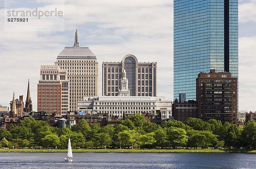
[[[237,124],[237,77],[229,72],[199,73],[196,79],[198,118]]]

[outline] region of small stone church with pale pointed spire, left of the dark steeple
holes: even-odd
[[[15,93],[13,92],[12,101],[10,101],[10,107],[11,107],[11,112],[10,112],[11,117],[14,117],[14,118],[22,117],[23,107],[24,107],[23,95],[19,96],[19,99],[15,99]]]

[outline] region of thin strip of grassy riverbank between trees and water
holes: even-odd
[[[72,149],[73,152],[207,152],[207,153],[256,153],[251,149]],[[52,152],[52,149],[0,149],[0,152]],[[53,152],[67,152],[67,149],[54,149]]]

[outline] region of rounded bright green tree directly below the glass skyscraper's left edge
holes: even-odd
[[[188,141],[186,131],[177,127],[169,127],[166,129],[167,141],[170,146],[179,147],[185,146]]]

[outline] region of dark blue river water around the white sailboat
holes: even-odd
[[[256,154],[245,153],[0,153],[0,169],[256,169]]]

